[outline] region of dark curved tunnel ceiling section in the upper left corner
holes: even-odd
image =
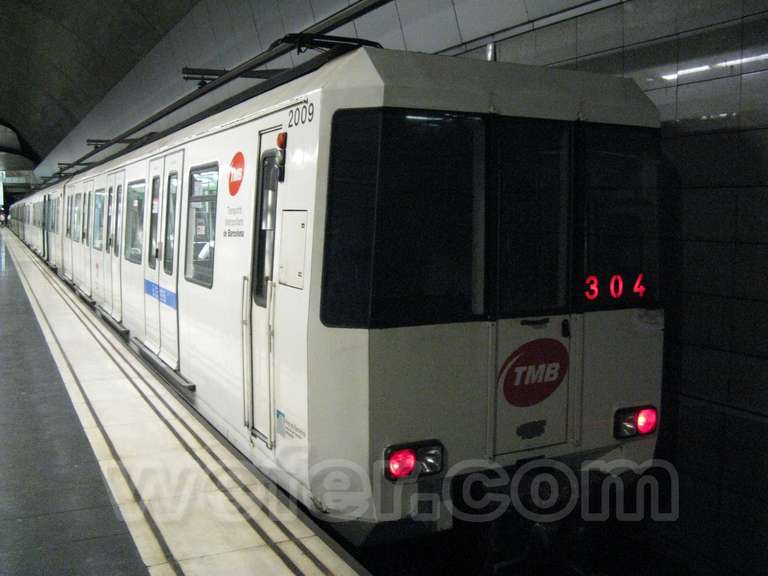
[[[0,123],[44,157],[197,2],[2,2]]]

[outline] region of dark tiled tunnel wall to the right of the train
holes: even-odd
[[[765,0],[632,0],[496,44],[500,60],[633,78],[661,111],[679,177],[662,453],[682,499],[678,523],[651,529],[717,573],[768,573],[766,11]]]

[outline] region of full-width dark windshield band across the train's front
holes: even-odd
[[[385,328],[651,305],[656,136],[425,110],[337,112],[322,321]]]

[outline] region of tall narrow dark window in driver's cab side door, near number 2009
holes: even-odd
[[[267,283],[272,278],[275,261],[275,219],[277,217],[277,185],[280,165],[276,150],[269,150],[261,157],[259,179],[259,232],[256,238],[256,270],[253,296],[259,306],[266,306]]]

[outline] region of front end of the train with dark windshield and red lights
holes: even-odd
[[[310,477],[320,509],[370,528],[554,518],[587,472],[642,471],[655,449],[655,113],[623,80],[476,65],[425,74],[461,88],[453,108],[412,80],[331,120]],[[334,408],[336,432],[317,424]],[[527,510],[553,470],[560,497]]]

